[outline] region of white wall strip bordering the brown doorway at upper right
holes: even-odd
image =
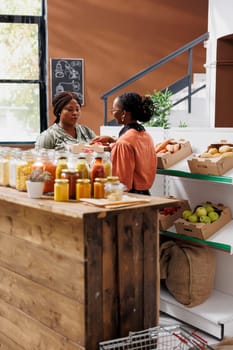
[[[215,121],[216,53],[217,40],[233,33],[233,0],[209,0],[206,76],[209,91],[209,114],[211,126]]]

